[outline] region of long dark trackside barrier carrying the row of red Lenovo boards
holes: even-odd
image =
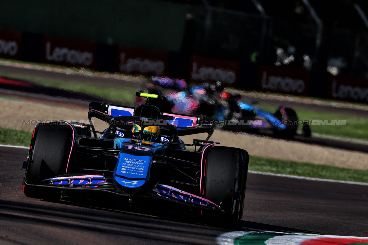
[[[0,29],[0,58],[85,67],[96,71],[132,75],[171,76],[189,82],[220,80],[229,87],[297,96],[310,94],[310,72],[304,69],[252,65],[237,60],[144,50]],[[258,78],[255,78],[258,73]],[[368,103],[368,79],[329,76],[321,89],[327,98]],[[255,85],[256,84],[256,85]],[[326,91],[327,89],[327,91]]]

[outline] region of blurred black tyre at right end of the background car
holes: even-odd
[[[273,114],[280,121],[287,122],[286,128],[283,130],[274,129],[273,134],[277,138],[286,138],[292,139],[296,135],[298,129],[298,116],[294,109],[289,107],[281,106],[277,111]]]

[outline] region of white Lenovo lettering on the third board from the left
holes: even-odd
[[[156,76],[162,75],[165,64],[162,61],[152,61],[148,59],[127,59],[125,60],[125,53],[120,54],[120,71],[125,72],[140,72],[140,73],[149,73],[152,72]]]

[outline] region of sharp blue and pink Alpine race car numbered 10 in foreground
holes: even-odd
[[[99,191],[122,202],[196,210],[212,224],[236,224],[243,215],[247,151],[210,141],[213,128],[197,126],[197,117],[161,113],[151,102],[162,96],[136,96],[146,103],[90,103],[89,123],[38,124],[22,167],[24,194],[57,201],[70,190]],[[92,118],[108,128],[96,131]],[[180,138],[200,133],[208,136],[191,144]]]

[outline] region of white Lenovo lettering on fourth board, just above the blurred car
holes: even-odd
[[[235,72],[233,71],[215,69],[208,66],[201,66],[201,68],[198,69],[197,62],[193,63],[191,76],[195,80],[216,80],[224,83],[233,83],[236,79]]]

